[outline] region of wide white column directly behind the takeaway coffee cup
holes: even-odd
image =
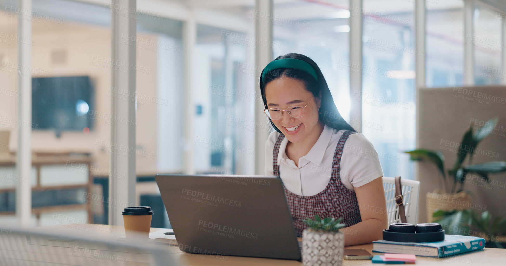
[[[121,65],[135,66],[135,41],[127,38],[123,39],[126,43],[120,43],[120,40],[123,34],[136,36],[137,20],[135,16],[132,16],[132,14],[136,14],[136,0],[113,0],[112,4],[113,7],[116,5],[124,7],[115,9],[112,12],[112,64],[121,62],[123,63]],[[136,70],[135,68],[123,69],[126,71],[112,70],[112,87],[128,90],[129,96],[128,100],[125,100],[122,98],[124,95],[118,97],[119,95],[116,95],[117,90],[112,90],[112,117],[126,118],[128,119],[126,121],[136,122]],[[109,206],[110,225],[123,225],[122,208],[133,206],[136,202],[135,184],[137,176],[135,157],[137,153],[129,152],[136,148],[136,126],[137,123],[114,123],[111,125],[111,143],[114,143],[115,147],[126,147],[127,153],[130,156],[112,152],[114,147],[111,145],[110,173],[126,173],[126,178],[119,179],[109,175],[109,197],[111,204],[114,204]]]

